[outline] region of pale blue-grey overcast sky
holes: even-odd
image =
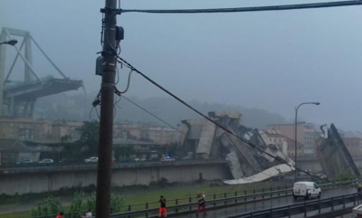
[[[121,7],[290,3],[122,0]],[[101,50],[103,6],[100,0],[0,0],[0,26],[30,31],[65,74],[83,80],[87,91],[96,91],[100,77],[94,75],[94,67],[96,52]],[[320,101],[319,107],[300,108],[300,118],[362,130],[361,14],[362,6],[238,14],[122,14],[118,17],[125,29],[121,56],[184,100],[268,109],[286,118],[293,118],[300,102]],[[56,75],[34,46],[33,52],[35,70],[42,76]],[[120,90],[127,72],[120,71]],[[128,95],[166,96],[137,74]]]

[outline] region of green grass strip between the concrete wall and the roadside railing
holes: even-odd
[[[207,199],[213,199],[214,194],[216,198],[223,198],[226,193],[227,196],[233,196],[235,192],[237,194],[243,194],[244,190],[249,190],[247,194],[252,194],[252,189],[261,189],[265,188],[265,191],[269,190],[271,186],[281,185],[281,189],[285,187],[285,183],[260,183],[253,185],[209,185],[209,184],[192,184],[192,185],[166,185],[164,187],[154,186],[154,187],[129,187],[127,190],[115,190],[113,193],[121,194],[124,196],[124,210],[128,208],[129,204],[131,210],[141,210],[146,208],[146,203],[148,203],[148,208],[157,208],[158,199],[160,195],[164,195],[167,199],[167,205],[176,204],[176,199],[178,204],[186,204],[189,202],[189,198],[192,198],[192,202],[195,202],[195,195],[199,192],[204,192]],[[291,184],[289,184],[291,185]],[[183,200],[181,200],[183,199]],[[31,205],[27,204],[28,208],[31,208]],[[65,205],[66,208],[66,205]],[[29,218],[30,211],[14,212],[0,214],[0,218]]]

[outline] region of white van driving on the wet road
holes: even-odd
[[[320,198],[322,191],[319,186],[313,182],[297,182],[293,185],[293,197],[297,200],[298,197],[311,199],[312,197]]]

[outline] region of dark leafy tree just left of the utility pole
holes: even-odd
[[[77,130],[81,134],[80,139],[77,141],[81,151],[85,151],[90,156],[96,156],[100,139],[100,123],[97,120],[85,121],[83,126]]]

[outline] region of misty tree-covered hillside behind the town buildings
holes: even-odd
[[[94,100],[96,93],[67,95],[60,94],[50,96],[38,100],[36,107],[45,111],[46,118],[51,119],[66,119],[66,120],[84,120],[97,118],[95,109],[91,110],[91,102]],[[171,125],[176,125],[182,119],[200,118],[194,111],[187,109],[184,105],[170,98],[150,98],[139,100],[135,97],[128,97],[144,109],[148,109],[157,117],[166,120]],[[116,101],[119,100],[116,97]],[[199,109],[203,113],[212,110],[235,110],[243,114],[242,123],[250,128],[264,128],[270,123],[286,123],[286,119],[276,113],[271,113],[265,109],[250,109],[237,105],[224,105],[218,103],[202,103],[199,101],[189,101],[190,105]],[[157,118],[152,117],[147,112],[129,103],[128,100],[119,100],[115,106],[115,120],[117,121],[132,121],[132,122],[148,122],[165,126]],[[98,112],[100,107],[98,107]],[[91,112],[91,116],[90,116]]]

